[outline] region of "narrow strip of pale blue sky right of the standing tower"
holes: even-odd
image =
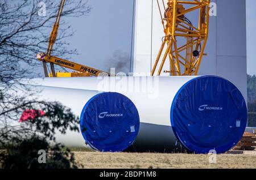
[[[246,0],[247,72],[256,74],[256,1]]]

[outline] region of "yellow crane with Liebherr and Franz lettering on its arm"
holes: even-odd
[[[114,76],[109,72],[104,72],[101,70],[97,70],[93,67],[88,67],[84,65],[80,65],[79,63],[75,63],[72,61],[68,61],[66,59],[62,59],[59,57],[52,56],[52,49],[58,35],[58,29],[60,26],[60,18],[63,12],[63,7],[65,5],[65,0],[61,0],[59,10],[57,12],[55,23],[53,24],[51,36],[49,37],[48,49],[46,53],[39,53],[36,55],[36,58],[39,61],[43,62],[44,75],[46,77],[79,77],[79,76]],[[51,72],[48,74],[47,71],[47,63],[51,65]],[[69,68],[75,70],[76,72],[55,72],[54,65],[58,65],[61,67]]]

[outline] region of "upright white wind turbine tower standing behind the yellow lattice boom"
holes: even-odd
[[[218,75],[230,80],[247,100],[246,1],[212,0],[217,16],[210,16],[209,39],[199,75]],[[163,26],[156,0],[136,0],[134,16],[135,73],[150,73],[158,54]],[[198,15],[187,17],[198,18]],[[168,63],[166,69],[168,70]]]

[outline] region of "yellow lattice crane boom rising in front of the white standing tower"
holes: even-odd
[[[201,59],[203,55],[207,55],[204,54],[204,50],[208,39],[210,0],[167,0],[167,6],[162,0],[163,14],[159,0],[156,1],[166,35],[163,37],[151,75],[155,75],[158,67],[158,76],[162,72],[170,73],[172,76],[197,75]],[[187,14],[196,11],[199,14],[198,27],[186,18]],[[159,66],[161,57],[162,62]],[[167,58],[170,61],[170,70],[163,71]]]

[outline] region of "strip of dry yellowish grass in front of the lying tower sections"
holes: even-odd
[[[74,152],[84,168],[256,168],[256,155],[217,155],[217,163],[210,164],[210,155],[162,153],[101,153]]]

